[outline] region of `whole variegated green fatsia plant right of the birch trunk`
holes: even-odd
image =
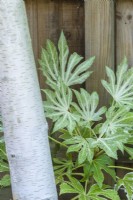
[[[102,85],[111,104],[99,108],[97,92],[73,87],[92,74],[94,59],[83,61],[77,53],[69,55],[63,32],[58,49],[50,40],[42,49],[39,63],[49,88],[42,90],[44,109],[53,124],[49,138],[59,145],[53,154],[56,183],[60,195],[71,193],[71,200],[119,200],[119,189],[132,200],[133,169],[117,177],[115,168],[126,168],[114,166],[114,161],[119,151],[133,159],[133,68],[128,68],[126,58],[116,74],[106,67],[108,80],[102,80]],[[106,184],[105,174],[113,186]]]

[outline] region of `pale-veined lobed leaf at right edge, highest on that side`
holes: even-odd
[[[109,82],[102,80],[105,89],[118,105],[133,107],[133,68],[128,69],[127,59],[124,58],[115,73],[106,67]]]

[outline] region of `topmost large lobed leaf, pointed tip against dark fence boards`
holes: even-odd
[[[62,32],[58,42],[58,50],[53,42],[47,40],[46,48],[42,49],[39,63],[47,79],[47,84],[56,90],[62,82],[66,86],[81,84],[90,76],[92,72],[88,69],[92,65],[94,57],[80,63],[81,60],[83,57],[77,53],[73,53],[69,57],[69,48]]]

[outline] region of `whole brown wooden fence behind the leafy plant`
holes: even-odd
[[[65,32],[70,51],[86,58],[95,55],[94,74],[86,81],[89,91],[98,91],[101,105],[108,104],[108,94],[101,86],[105,66],[115,71],[126,56],[133,66],[133,0],[25,0],[35,59],[40,57],[46,39],[55,43]],[[38,63],[38,62],[37,62]],[[38,64],[37,64],[38,66]],[[38,70],[41,87],[44,78]],[[133,167],[120,156],[118,164]],[[117,170],[122,176],[123,170]]]

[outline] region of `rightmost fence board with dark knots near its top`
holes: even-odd
[[[133,0],[116,1],[116,62],[126,56],[133,66]]]

